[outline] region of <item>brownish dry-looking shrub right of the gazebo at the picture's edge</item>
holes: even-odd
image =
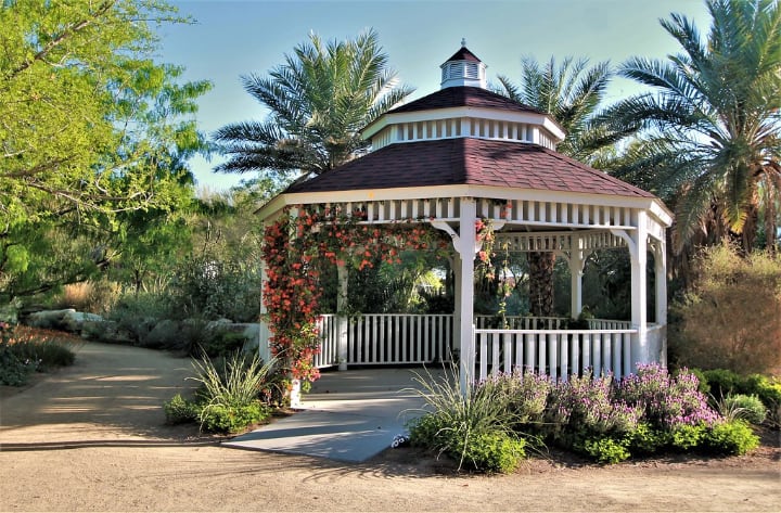
[[[742,257],[717,246],[702,252],[696,268],[692,288],[673,306],[681,336],[670,346],[679,364],[737,373],[781,369],[781,254]]]

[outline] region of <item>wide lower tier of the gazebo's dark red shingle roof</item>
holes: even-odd
[[[473,138],[392,144],[285,193],[487,185],[626,197],[654,195],[537,144]]]

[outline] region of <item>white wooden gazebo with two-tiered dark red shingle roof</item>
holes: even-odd
[[[661,200],[555,148],[564,131],[549,115],[486,87],[486,66],[462,46],[441,66],[441,89],[394,108],[368,126],[371,152],[289,187],[258,210],[274,219],[285,207],[361,211],[361,223],[430,223],[452,239],[452,316],[324,316],[319,367],[426,363],[459,359],[460,380],[515,368],[566,380],[590,369],[620,376],[638,363],[666,363],[665,229]],[[631,319],[512,319],[489,328],[474,315],[478,220],[511,252],[552,252],[572,273],[571,317],[582,309],[582,271],[596,251],[626,251],[631,260]],[[649,255],[655,316],[646,316]],[[347,273],[340,268],[346,286]],[[342,296],[342,295],[341,295]],[[261,354],[268,331],[261,329]]]

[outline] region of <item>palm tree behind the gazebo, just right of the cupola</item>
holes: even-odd
[[[553,57],[545,65],[524,57],[521,85],[515,86],[500,76],[498,92],[550,114],[566,132],[566,139],[556,150],[580,162],[597,165],[627,133],[613,132],[605,123],[594,121],[611,70],[607,62],[590,68],[587,66],[588,60],[575,61],[572,56],[565,57],[559,66]],[[533,252],[527,256],[532,315],[552,316],[555,255]]]

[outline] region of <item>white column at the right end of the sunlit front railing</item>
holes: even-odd
[[[637,334],[632,338],[631,358],[632,364],[650,363],[651,351],[648,347],[648,320],[645,291],[648,283],[645,279],[645,266],[648,261],[648,214],[644,210],[637,210],[637,230],[631,235],[633,252],[631,255],[631,323]]]

